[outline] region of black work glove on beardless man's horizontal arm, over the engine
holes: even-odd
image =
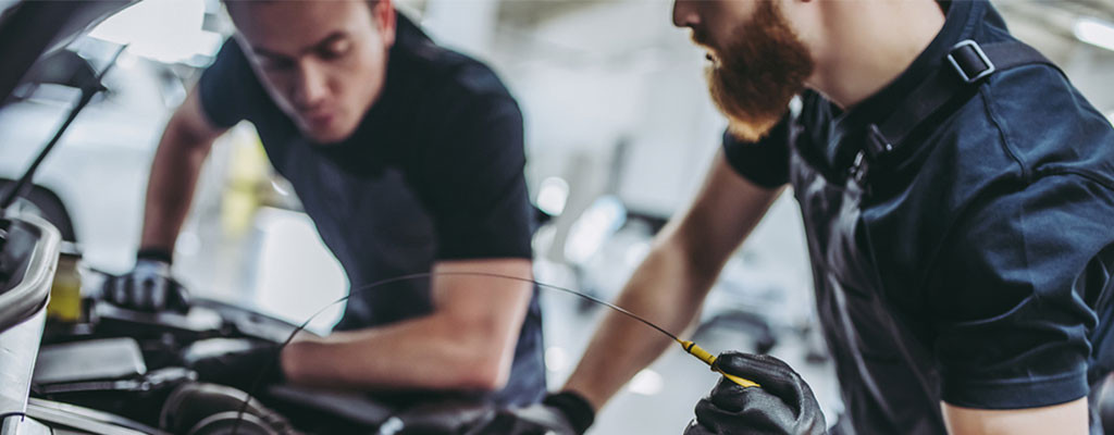
[[[226,385],[245,392],[285,382],[278,345],[246,338],[211,338],[194,343],[183,353],[186,368],[197,380]]]

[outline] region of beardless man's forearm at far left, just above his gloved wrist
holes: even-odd
[[[190,137],[172,123],[163,134],[147,181],[141,248],[174,249],[189,212],[197,176],[212,140]]]

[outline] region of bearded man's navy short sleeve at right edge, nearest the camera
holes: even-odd
[[[930,275],[942,398],[1016,409],[1084,397],[1114,192],[1073,175],[1003,190],[958,219]]]

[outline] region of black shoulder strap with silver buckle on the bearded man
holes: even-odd
[[[869,126],[863,149],[868,159],[873,160],[900,147],[922,121],[952,98],[965,93],[965,89],[978,86],[995,72],[1036,63],[1056,68],[1036,49],[1019,41],[980,46],[970,39],[964,40],[951,48],[945,61],[944,68],[932,72],[885,121]]]

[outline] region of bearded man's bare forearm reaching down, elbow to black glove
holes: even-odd
[[[618,306],[670,332],[681,333],[691,325],[716,274],[694,269],[683,253],[655,248],[623,289]],[[609,313],[565,389],[579,393],[599,409],[673,343],[646,325]]]

